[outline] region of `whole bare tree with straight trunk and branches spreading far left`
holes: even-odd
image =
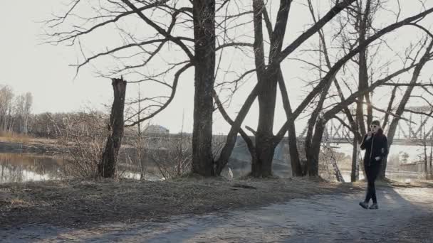
[[[142,109],[126,117],[126,126],[135,126],[162,112],[174,99],[182,74],[195,68],[194,74],[194,158],[192,171],[204,176],[214,175],[212,160],[212,114],[213,89],[215,80],[216,50],[223,50],[246,43],[226,43],[216,46],[216,29],[227,33],[227,21],[236,16],[226,17],[230,1],[216,3],[214,0],[197,1],[108,1],[90,3],[88,14],[82,1],[74,0],[63,14],[56,14],[46,21],[48,42],[74,45],[82,57],[75,67],[97,65],[98,61],[111,60],[98,70],[103,77],[124,75],[131,84],[147,82],[161,85],[169,90],[161,94],[142,97]],[[223,12],[216,21],[216,13]],[[137,26],[140,31],[136,28]],[[110,31],[113,39],[120,36],[117,46],[105,50],[83,43],[98,31]],[[192,31],[193,30],[193,31]],[[191,36],[194,36],[192,38]],[[96,53],[96,54],[95,54]],[[143,61],[144,60],[144,61]],[[167,65],[160,65],[166,63]],[[98,65],[101,67],[101,65]],[[130,86],[131,87],[131,86]],[[160,89],[162,90],[162,89]],[[137,102],[137,101],[136,101]],[[140,119],[134,119],[142,114]]]

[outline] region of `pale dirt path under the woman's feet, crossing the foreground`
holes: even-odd
[[[360,193],[319,195],[259,210],[173,217],[164,223],[0,229],[0,242],[433,241],[431,228],[427,230],[433,222],[433,188],[380,188],[378,193],[380,210],[360,208]]]

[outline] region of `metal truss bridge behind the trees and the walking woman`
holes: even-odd
[[[396,145],[408,145],[408,146],[419,146],[422,145],[426,139],[430,139],[433,136],[433,108],[432,107],[407,107],[407,110],[412,112],[405,112],[403,116],[405,119],[400,119],[397,131],[394,136],[392,144]],[[355,114],[355,111],[351,111]],[[345,114],[338,114],[338,117],[349,124]],[[384,117],[375,117],[380,121],[383,121]],[[390,120],[392,120],[390,115]],[[385,134],[387,133],[387,127],[390,126],[390,121],[385,127]],[[298,140],[304,141],[307,128],[305,128],[301,135],[298,136]],[[326,124],[325,134],[323,138],[328,139],[328,142],[333,144],[352,144],[353,133],[338,119],[331,119]]]

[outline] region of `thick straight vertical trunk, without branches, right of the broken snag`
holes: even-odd
[[[194,126],[192,173],[213,176],[212,113],[214,112],[215,1],[194,0]]]

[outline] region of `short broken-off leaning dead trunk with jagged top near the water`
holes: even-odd
[[[123,137],[123,111],[125,109],[126,81],[113,79],[114,90],[113,107],[111,107],[110,121],[108,122],[108,138],[105,144],[102,159],[98,166],[98,173],[103,178],[114,178],[116,164]]]

